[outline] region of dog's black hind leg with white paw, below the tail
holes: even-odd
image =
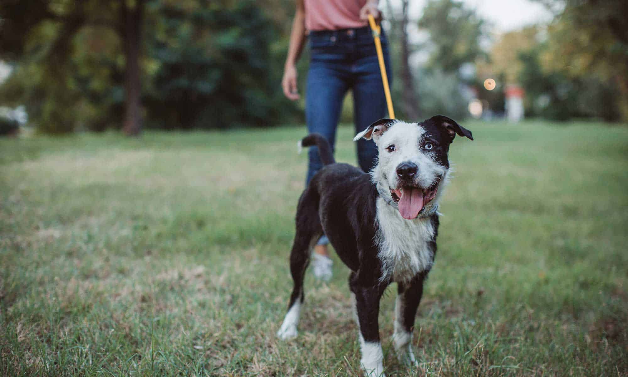
[[[306,190],[301,197],[296,214],[295,241],[290,253],[290,273],[295,287],[290,295],[288,313],[277,332],[277,336],[283,340],[293,339],[298,334],[296,326],[301,314],[301,305],[303,305],[303,278],[310,263],[311,249],[323,234],[316,203],[317,201],[311,200]]]

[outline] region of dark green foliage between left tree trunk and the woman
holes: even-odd
[[[292,107],[278,90],[276,26],[252,1],[229,7],[158,4],[149,41],[158,68],[146,97],[149,126],[276,126]],[[282,51],[283,52],[283,51]],[[283,56],[281,56],[283,58]]]

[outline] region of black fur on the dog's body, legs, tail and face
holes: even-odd
[[[374,123],[386,124],[391,119]],[[448,117],[436,116],[421,123],[435,144],[435,160],[449,167],[447,153],[455,134],[472,139],[470,131],[458,126]],[[303,276],[310,250],[324,232],[336,253],[350,270],[349,287],[355,294],[360,332],[366,342],[379,342],[379,300],[393,276],[384,276],[378,258],[377,207],[379,192],[371,175],[345,163],[335,163],[327,140],[311,134],[301,140],[303,146],[318,146],[323,167],[305,188],[296,211],[296,235],[290,254],[290,271],[295,283],[290,309],[296,300],[303,302]],[[428,217],[434,229],[433,238],[426,240],[431,254],[436,254],[438,216]],[[398,292],[404,299],[402,318],[406,332],[411,332],[414,317],[423,293],[423,281],[430,269],[421,271],[411,281],[398,282]]]

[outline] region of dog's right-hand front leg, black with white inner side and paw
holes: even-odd
[[[416,309],[423,296],[425,275],[416,276],[409,283],[398,283],[398,295],[394,307],[393,344],[399,363],[416,366],[412,351],[412,330]]]

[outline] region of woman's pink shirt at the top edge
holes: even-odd
[[[367,0],[304,0],[305,28],[310,31],[362,28],[360,9]]]

